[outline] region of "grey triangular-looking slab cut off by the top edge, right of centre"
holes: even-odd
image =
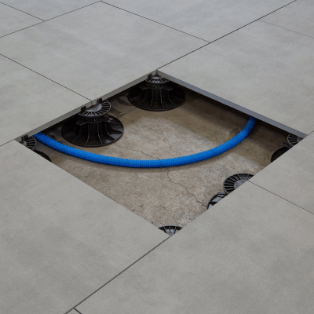
[[[140,16],[213,41],[269,14],[291,0],[106,0]]]

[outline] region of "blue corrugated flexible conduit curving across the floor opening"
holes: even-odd
[[[55,149],[61,153],[74,156],[80,159],[97,162],[100,164],[119,166],[119,167],[129,167],[129,168],[164,168],[164,167],[175,167],[175,166],[187,165],[187,164],[191,164],[194,162],[198,162],[198,161],[202,161],[205,159],[218,156],[226,152],[227,150],[237,146],[240,142],[242,142],[253,130],[255,124],[256,124],[256,119],[253,117],[250,117],[248,123],[239,134],[237,134],[231,140],[217,147],[214,147],[210,150],[193,154],[193,155],[183,156],[183,157],[169,158],[169,159],[157,159],[157,160],[124,159],[124,158],[98,155],[98,154],[85,152],[83,150],[61,144],[49,138],[43,133],[37,133],[36,135],[34,135],[34,137],[36,138],[36,140],[40,141],[46,146],[49,146],[50,148]]]

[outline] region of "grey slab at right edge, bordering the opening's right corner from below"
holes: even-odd
[[[314,213],[314,133],[259,172],[252,182]]]

